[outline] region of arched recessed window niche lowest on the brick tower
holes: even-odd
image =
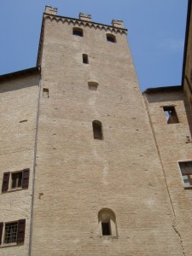
[[[100,210],[98,222],[101,236],[117,236],[116,217],[112,210],[108,208]]]

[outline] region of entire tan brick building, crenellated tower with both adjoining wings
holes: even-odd
[[[189,96],[142,94],[126,34],[47,6],[0,76],[1,255],[191,255]]]

